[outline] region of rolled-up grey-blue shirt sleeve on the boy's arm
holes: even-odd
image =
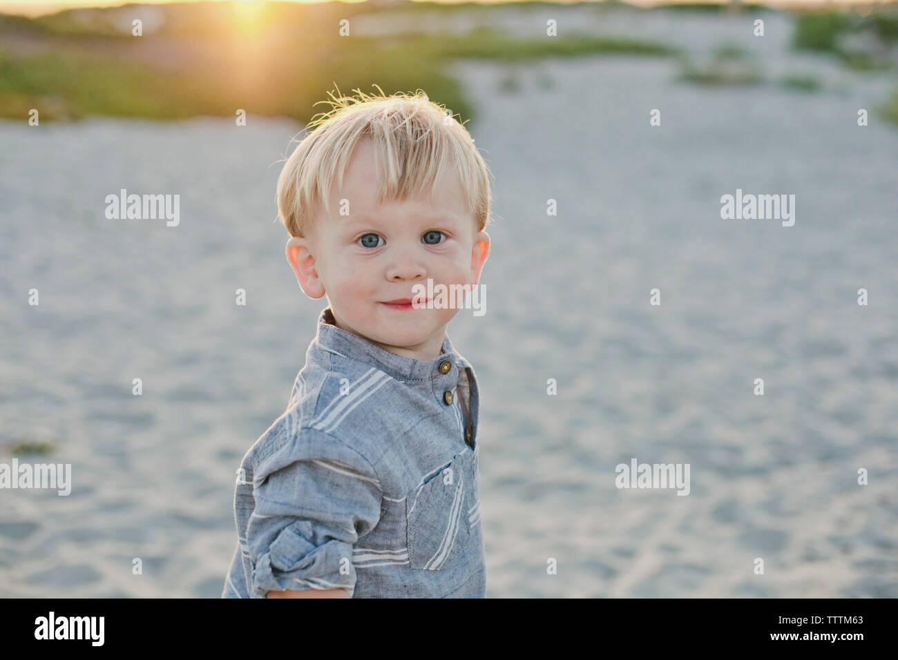
[[[353,545],[381,515],[371,462],[348,444],[302,428],[253,474],[247,525],[251,597],[285,589],[356,588]]]

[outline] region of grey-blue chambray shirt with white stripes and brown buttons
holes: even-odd
[[[477,379],[448,334],[442,351],[399,356],[321,312],[286,411],[238,471],[223,598],[485,597]]]

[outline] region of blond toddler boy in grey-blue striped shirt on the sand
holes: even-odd
[[[424,92],[357,92],[277,181],[287,260],[329,305],[243,457],[224,598],[486,595],[477,379],[446,334],[458,310],[413,287],[478,284],[489,168]]]

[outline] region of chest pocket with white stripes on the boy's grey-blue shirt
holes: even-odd
[[[462,558],[470,540],[471,450],[455,455],[405,498],[411,568],[445,570]]]

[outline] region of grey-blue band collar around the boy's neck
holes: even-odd
[[[318,317],[313,343],[322,350],[374,366],[399,381],[431,381],[440,375],[438,368],[445,360],[450,360],[453,366],[459,368],[470,366],[453,348],[448,332],[443,338],[441,355],[431,360],[416,360],[392,353],[357,334],[339,329],[334,325],[330,306],[325,307]]]

